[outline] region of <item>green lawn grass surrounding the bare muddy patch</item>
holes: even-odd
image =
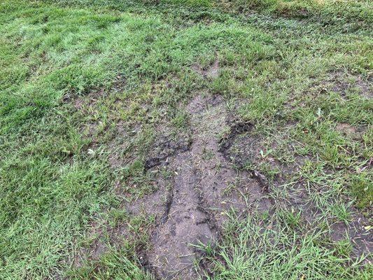
[[[370,206],[372,172],[364,167],[373,156],[372,99],[364,97],[356,79],[368,83],[372,34],[366,25],[357,27],[350,20],[357,8],[352,6],[351,13],[350,6],[343,9],[342,18],[325,30],[317,21],[223,13],[213,8],[221,7],[220,2],[189,1],[190,6],[178,9],[126,1],[58,3],[69,6],[32,1],[3,1],[0,6],[1,279],[45,279],[66,272],[66,260],[83,240],[91,217],[116,215],[122,197],[113,192],[114,178],[141,182],[136,189],[128,186],[127,199],[148,190],[141,169],[156,124],[165,118],[177,131],[184,122],[177,104],[199,89],[223,94],[231,104],[244,100],[235,113],[257,124],[258,133],[269,139],[284,124],[296,121],[296,127],[283,133],[302,146],[274,157],[318,158],[304,167],[302,177],[337,197],[326,211],[343,204],[345,195],[356,197],[362,209]],[[278,3],[272,1],[265,12],[279,10]],[[369,10],[367,2],[361,3],[363,11]],[[325,21],[335,17],[327,12],[312,16]],[[359,19],[368,24],[372,20],[367,13]],[[190,66],[209,64],[216,55],[225,69],[206,83]],[[333,90],[335,81],[325,83],[331,73],[342,73],[349,84],[345,97]],[[118,76],[126,83],[113,90]],[[164,87],[165,81],[172,87]],[[87,94],[99,88],[106,94],[96,104],[76,110],[76,98],[89,99]],[[138,158],[130,167],[108,164],[118,121],[129,127],[143,124],[138,137],[124,139],[129,141],[126,153]],[[85,128],[91,123],[99,123],[93,138]],[[343,134],[339,123],[363,134],[358,140]],[[276,172],[267,165],[259,168],[269,175]],[[102,214],[102,209],[111,211]],[[344,221],[346,215],[337,218]],[[214,264],[217,279],[250,279],[250,273],[259,279],[297,279],[302,273],[306,279],[351,279],[356,274],[334,251],[291,230],[279,237],[290,250],[281,257],[271,246],[263,252],[244,242],[232,249],[236,238],[246,239],[247,231],[255,229],[248,225],[239,225],[242,233],[236,237],[227,230],[227,243],[215,254],[236,258],[229,258],[232,266]],[[299,251],[291,253],[298,242]],[[133,269],[133,251],[131,244],[124,251],[113,249],[98,263],[71,274],[147,277]],[[342,258],[348,256],[344,254]],[[248,255],[258,258],[245,258]],[[258,260],[269,258],[273,261],[258,265]],[[297,263],[293,270],[281,261],[288,258]],[[370,270],[359,273],[364,279]]]

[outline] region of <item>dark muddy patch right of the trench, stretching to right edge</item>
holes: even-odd
[[[288,130],[286,127],[285,130]],[[348,124],[337,125],[337,130],[345,135],[353,137],[357,134],[356,129]],[[264,139],[262,135],[256,134],[253,125],[250,123],[233,122],[230,130],[225,134],[220,146],[220,152],[224,157],[232,161],[240,169],[246,169],[265,188],[269,197],[277,209],[283,211],[300,213],[300,220],[304,221],[304,226],[314,228],[315,222],[327,223],[330,231],[325,235],[335,246],[338,241],[348,240],[351,243],[351,258],[356,260],[363,255],[369,255],[373,249],[372,229],[370,219],[361,215],[357,209],[347,206],[351,215],[349,223],[338,221],[334,212],[338,204],[345,204],[347,198],[339,195],[330,196],[328,188],[321,188],[317,184],[311,183],[302,176],[302,167],[309,163],[315,163],[317,158],[311,155],[297,155],[294,147],[289,146],[288,139],[284,139],[288,133],[279,130],[278,135]],[[281,144],[283,143],[283,144]],[[295,145],[292,142],[292,145]],[[269,153],[269,151],[272,151]],[[277,156],[288,154],[284,159],[291,158],[291,161],[279,160]],[[276,154],[276,158],[272,157]],[[267,169],[265,172],[261,170]],[[274,176],[269,172],[274,171]],[[266,189],[264,189],[266,190]],[[315,197],[323,197],[326,205],[335,205],[331,209],[325,209],[325,205],[320,201],[316,202]],[[328,197],[328,198],[327,198]],[[330,211],[330,213],[328,212]],[[320,220],[321,219],[321,220]],[[368,230],[367,230],[368,229]],[[367,259],[369,262],[371,259]]]

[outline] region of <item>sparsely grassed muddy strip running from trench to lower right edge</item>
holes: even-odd
[[[262,174],[259,178],[269,184],[269,197],[272,198],[272,202],[275,202],[274,207],[288,209],[296,215],[299,214],[304,225],[311,226],[311,228],[318,223],[327,222],[330,232],[325,236],[326,239],[351,241],[353,244],[351,256],[355,259],[370,255],[373,248],[373,230],[370,227],[370,218],[360,214],[354,207],[349,207],[351,217],[348,221],[336,221],[335,215],[340,207],[339,204],[342,204],[346,197],[340,200],[338,195],[330,195],[328,190],[315,187],[311,190],[304,183],[302,168],[316,159],[298,155],[292,162],[279,162],[270,156],[263,156],[260,151],[266,149],[260,143],[260,137],[251,135],[250,132],[234,134],[230,137],[230,141],[227,141],[227,144],[223,146],[225,156],[231,158],[241,168],[250,163],[251,165],[246,167],[248,169],[251,166],[265,165],[266,161],[270,162],[270,167],[276,170],[272,179],[268,180]],[[273,143],[272,148],[275,150],[276,137],[274,137]],[[258,172],[253,172],[258,174]],[[323,199],[321,201],[315,200],[316,195],[321,195]],[[332,205],[331,209],[324,209],[324,207],[327,208],[327,204]],[[333,210],[335,210],[334,213]],[[325,214],[323,211],[330,211],[330,213]],[[367,263],[371,261],[370,258],[364,260]]]

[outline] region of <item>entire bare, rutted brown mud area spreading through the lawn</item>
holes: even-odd
[[[199,66],[192,68],[209,80],[219,75],[218,60],[204,70]],[[253,134],[255,127],[231,116],[224,98],[218,94],[196,94],[180,110],[188,115],[188,133],[173,139],[167,125],[160,125],[158,138],[144,164],[146,174],[155,174],[155,190],[123,204],[130,216],[155,218],[146,230],[150,245],[138,253],[141,264],[157,279],[197,279],[200,273],[206,273],[202,248],[213,247],[220,240],[230,212],[244,219],[286,209],[291,215],[299,215],[305,228],[323,222],[324,209],[312,199],[312,192],[320,195],[323,190],[309,190],[302,183],[301,175],[296,181],[288,181],[301,174],[307,162],[316,159],[297,155],[293,162],[279,162],[264,155],[266,148],[261,144],[260,135]],[[290,123],[284,129],[295,126]],[[276,141],[281,141],[281,137],[274,137],[274,150],[279,148]],[[118,159],[111,162],[114,166],[128,163]],[[276,169],[274,175],[265,175],[260,170],[266,162]],[[338,203],[332,196],[325,202]],[[349,239],[353,244],[353,258],[362,257],[363,262],[370,262],[370,258],[365,258],[373,248],[370,221],[356,209],[351,215],[351,223],[344,223],[335,221],[333,214],[329,214],[325,221],[330,225],[330,232],[325,239]],[[109,243],[118,246],[123,238],[131,240],[128,227],[123,224],[106,231]],[[92,225],[91,234],[96,235],[95,241],[78,252],[77,266],[84,258],[97,260],[108,250],[100,225]],[[199,265],[196,267],[196,264]]]

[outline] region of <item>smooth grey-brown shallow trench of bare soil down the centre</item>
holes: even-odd
[[[240,215],[253,207],[265,211],[271,204],[260,180],[234,169],[220,152],[219,138],[227,128],[223,99],[198,95],[187,111],[192,141],[187,151],[167,158],[174,178],[151,237],[153,250],[146,255],[150,269],[162,279],[197,279],[200,255],[193,245],[213,245],[225,211]]]

